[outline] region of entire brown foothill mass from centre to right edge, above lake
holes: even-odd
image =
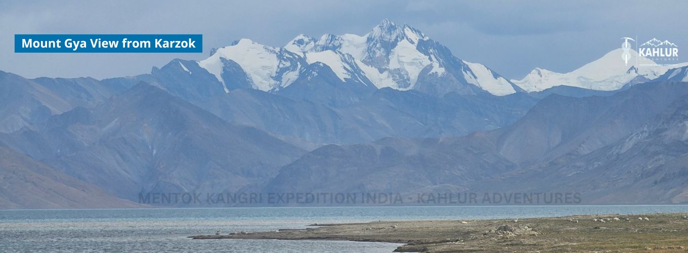
[[[580,192],[585,203],[685,203],[687,95],[686,83],[552,95],[504,129],[323,146],[284,166],[266,190]],[[640,181],[647,184],[625,196]]]

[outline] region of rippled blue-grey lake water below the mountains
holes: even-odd
[[[411,206],[0,210],[0,252],[391,252],[350,241],[191,240],[196,234],[305,228],[312,223],[511,219],[570,214],[688,212],[688,206]]]

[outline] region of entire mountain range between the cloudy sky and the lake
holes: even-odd
[[[0,208],[237,191],[575,190],[585,203],[686,203],[687,67],[625,66],[620,55],[507,80],[384,20],[363,36],[301,34],[283,47],[241,39],[138,76],[0,72]]]

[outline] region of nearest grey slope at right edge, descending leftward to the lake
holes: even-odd
[[[663,113],[608,146],[568,162],[479,181],[474,188],[581,192],[586,203],[688,203],[686,164],[688,96],[682,96]]]

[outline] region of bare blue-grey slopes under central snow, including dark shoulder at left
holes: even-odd
[[[416,90],[377,89],[366,85],[365,78],[361,79],[364,82],[341,80],[329,65],[320,62],[306,69],[288,87],[273,92],[239,88],[225,93],[213,75],[193,61],[182,60],[154,69],[152,74],[103,82],[124,87],[147,82],[232,124],[315,144],[446,137],[497,129],[520,118],[540,99],[525,93],[493,96],[484,91],[438,97]],[[246,80],[244,74],[239,78]]]

